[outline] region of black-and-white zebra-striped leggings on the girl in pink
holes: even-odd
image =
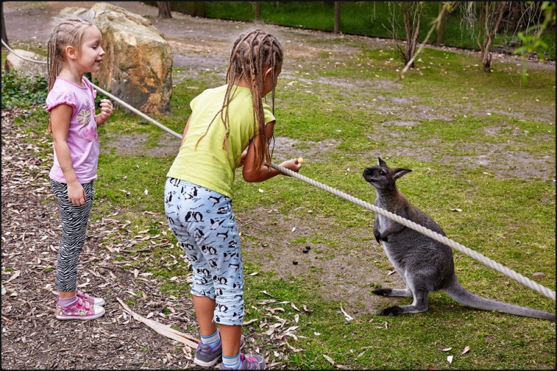
[[[77,288],[77,265],[79,254],[85,245],[85,237],[93,194],[93,181],[81,184],[87,199],[84,206],[73,205],[68,199],[68,185],[50,180],[50,186],[58,199],[60,220],[62,222],[62,240],[58,249],[56,262],[56,281],[54,288],[60,291],[73,291]]]

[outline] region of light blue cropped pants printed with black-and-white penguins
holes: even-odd
[[[164,210],[168,226],[194,268],[191,294],[215,300],[213,322],[241,325],[244,272],[230,197],[168,177]]]

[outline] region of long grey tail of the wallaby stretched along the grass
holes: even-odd
[[[551,321],[555,321],[556,319],[555,313],[538,311],[538,309],[527,308],[525,306],[497,302],[496,300],[486,299],[485,297],[474,295],[462,287],[456,276],[453,276],[453,281],[446,288],[444,288],[444,291],[447,295],[455,299],[456,302],[471,308],[483,309],[485,311],[500,311],[503,313],[524,315],[524,317],[542,318],[544,320]]]

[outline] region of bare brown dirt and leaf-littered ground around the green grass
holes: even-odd
[[[202,19],[173,13],[173,19],[156,19],[157,8],[146,6],[136,1],[108,1],[121,6],[133,13],[149,16],[152,24],[159,28],[173,50],[174,67],[181,67],[182,73],[175,77],[175,82],[182,78],[190,78],[207,70],[217,70],[218,76],[224,78],[226,70],[223,66],[228,63],[230,45],[242,29],[249,25],[243,22],[228,22],[217,19]],[[49,20],[66,6],[90,8],[95,2],[63,1],[16,2],[3,3],[6,29],[10,43],[18,41],[33,41],[46,45],[51,25]],[[304,31],[293,28],[276,28],[281,40],[304,40],[309,38],[327,39],[333,36],[329,33]],[[387,42],[368,39],[370,44],[377,43],[386,47]],[[336,51],[350,51],[350,45],[335,47]],[[317,56],[323,49],[304,46],[303,42],[287,42],[285,49],[289,58],[310,58]],[[191,53],[194,51],[195,53]],[[501,57],[503,58],[503,57]],[[537,65],[539,68],[552,68],[555,65]],[[285,71],[285,76],[292,72]],[[328,83],[338,83],[328,80]],[[385,81],[385,85],[396,83]],[[342,83],[340,83],[342,85]],[[393,102],[396,103],[396,102]],[[400,102],[399,102],[400,103]],[[392,110],[392,107],[385,108]],[[56,249],[61,234],[56,204],[52,192],[43,177],[49,171],[49,163],[42,162],[33,156],[33,151],[39,149],[22,145],[19,139],[22,133],[12,125],[16,111],[2,111],[2,354],[3,369],[36,369],[36,368],[77,368],[77,369],[109,369],[109,368],[192,368],[191,354],[181,343],[155,333],[145,324],[131,320],[123,312],[122,306],[116,301],[120,299],[135,300],[130,306],[133,311],[143,316],[152,315],[151,319],[172,325],[183,333],[198,337],[195,318],[192,315],[191,300],[187,294],[179,297],[167,297],[160,291],[164,282],[151,279],[148,274],[132,272],[121,267],[130,263],[134,258],[113,262],[110,252],[125,252],[142,238],[127,233],[125,222],[116,218],[103,218],[100,222],[92,223],[88,229],[86,247],[81,253],[79,266],[79,283],[84,290],[87,286],[93,291],[111,290],[113,297],[107,298],[105,306],[107,314],[100,320],[92,322],[61,322],[54,318],[53,292],[54,272],[56,264]],[[425,113],[424,115],[433,115]],[[441,113],[435,114],[439,118]],[[547,113],[547,119],[554,119],[554,113]],[[418,117],[421,118],[421,117]],[[412,122],[392,122],[394,125],[411,125]],[[141,135],[122,138],[118,142],[107,143],[105,148],[117,147],[122,154],[146,154],[149,156],[166,156],[176,151],[176,139],[169,136],[154,149],[144,149],[141,142],[145,140]],[[279,158],[297,156],[292,151],[295,140],[276,138],[275,155]],[[318,158],[320,151],[334,148],[338,145],[334,140],[320,143],[304,143],[308,146],[308,156]],[[425,149],[419,156],[427,156],[427,146],[434,143],[424,143]],[[404,152],[402,148],[400,151]],[[500,151],[495,152],[500,153]],[[417,156],[417,155],[416,155]],[[554,159],[553,159],[554,160]],[[466,160],[462,160],[466,163]],[[496,163],[496,161],[494,161]],[[544,179],[554,178],[555,164],[540,163],[527,164],[531,174],[524,176],[542,176]],[[494,168],[496,171],[496,168]],[[524,171],[524,168],[523,168]],[[517,170],[518,172],[518,170]],[[370,192],[371,197],[375,197]],[[51,200],[46,204],[45,199]],[[396,274],[389,274],[389,269],[381,270],[377,267],[361,265],[363,256],[374,257],[382,255],[382,250],[375,242],[369,246],[356,245],[354,240],[369,238],[370,231],[355,231],[356,236],[341,237],[347,246],[345,254],[336,256],[333,260],[320,261],[309,254],[302,254],[288,246],[288,241],[274,240],[271,228],[292,229],[291,222],[281,222],[283,218],[276,218],[276,224],[269,226],[269,214],[276,211],[260,208],[250,215],[238,215],[240,229],[243,233],[269,236],[272,245],[273,258],[268,266],[280,277],[288,279],[290,275],[306,274],[308,264],[322,265],[321,280],[324,283],[322,296],[327,299],[343,299],[347,302],[345,308],[353,317],[362,313],[375,313],[377,308],[386,306],[389,299],[362,295],[361,283],[391,283],[401,286],[402,279]],[[116,217],[117,213],[113,216]],[[162,215],[152,215],[153,220],[164,220]],[[370,224],[372,214],[370,213]],[[304,226],[299,233],[314,233],[320,230],[315,224]],[[107,231],[120,233],[119,242],[102,242],[102,236]],[[356,237],[356,238],[354,238]],[[161,237],[152,241],[153,245],[170,245],[168,239]],[[105,247],[106,249],[101,249]],[[357,247],[357,248],[356,248]],[[170,248],[170,247],[169,247]],[[266,259],[262,246],[258,243],[246,243],[253,256]],[[314,246],[327,253],[326,246]],[[179,256],[178,249],[173,250],[174,256]],[[171,255],[171,256],[173,256]],[[173,256],[173,257],[174,257]],[[299,261],[292,265],[292,261]],[[97,270],[90,269],[88,263],[97,261]],[[161,264],[173,264],[171,258],[161,261]],[[13,271],[6,272],[6,268]],[[350,274],[348,274],[350,272]],[[178,279],[181,280],[181,279]],[[187,279],[183,279],[187,281]],[[185,282],[186,283],[186,282]],[[163,313],[163,310],[166,314]],[[302,313],[303,314],[303,313]],[[339,314],[339,318],[342,318]],[[276,352],[267,353],[270,368],[285,368],[285,354],[297,352],[300,349],[284,347],[280,336],[267,336],[257,327],[244,327],[246,336],[246,350],[258,352],[262,343],[270,343]]]

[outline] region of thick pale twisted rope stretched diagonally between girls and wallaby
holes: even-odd
[[[2,44],[4,44],[4,46],[6,46],[8,49],[10,49],[8,47],[8,45],[6,45],[6,43],[3,40],[2,40]],[[10,49],[10,51],[12,51],[12,53],[13,53],[12,49]],[[15,55],[17,56],[17,54],[15,54]],[[18,56],[18,57],[22,58],[22,59],[25,59],[25,60],[29,60],[31,62],[46,63],[46,62],[42,62],[40,60],[32,60],[32,59],[29,59],[29,58],[23,58],[21,56]],[[148,122],[150,122],[152,124],[155,124],[155,126],[158,126],[160,129],[163,129],[164,131],[166,131],[166,133],[174,135],[176,138],[182,139],[182,135],[176,133],[175,131],[172,131],[171,129],[168,129],[166,126],[164,126],[164,125],[160,124],[159,122],[155,121],[154,119],[148,117],[148,115],[145,115],[144,113],[141,113],[139,110],[136,110],[136,108],[133,108],[129,104],[125,103],[125,101],[122,101],[121,99],[118,99],[117,97],[114,97],[109,92],[107,92],[105,90],[102,90],[101,88],[97,87],[94,84],[93,84],[93,86],[95,87],[96,90],[102,92],[102,94],[104,94],[107,97],[110,97],[111,99],[116,101],[116,103],[120,104],[120,106],[123,106],[123,107],[127,108],[128,110],[131,110],[133,113],[136,113],[137,115],[139,115],[139,116],[143,117],[144,119],[148,120]],[[483,263],[483,264],[487,265],[488,267],[492,267],[494,270],[497,270],[497,271],[505,274],[505,276],[508,276],[508,277],[514,279],[515,281],[518,281],[519,283],[522,283],[524,286],[528,286],[532,290],[540,292],[540,294],[542,294],[546,297],[549,297],[549,299],[553,299],[554,301],[556,300],[556,293],[555,293],[554,290],[550,290],[549,288],[546,288],[546,287],[540,285],[539,283],[524,277],[522,274],[519,274],[519,273],[515,272],[514,270],[509,269],[508,267],[504,267],[503,265],[497,263],[496,261],[493,261],[492,259],[487,258],[487,256],[484,256],[483,254],[475,252],[472,249],[469,249],[468,247],[466,247],[464,245],[460,245],[460,243],[455,242],[455,241],[451,240],[450,238],[446,238],[445,236],[441,236],[439,233],[434,232],[431,229],[427,229],[424,226],[421,226],[419,224],[411,222],[410,220],[407,220],[404,217],[400,217],[396,214],[393,214],[390,211],[386,211],[383,208],[378,208],[377,206],[372,205],[372,204],[370,204],[366,201],[362,201],[361,199],[356,199],[356,197],[352,197],[345,192],[341,192],[340,190],[336,190],[335,188],[325,186],[323,183],[319,183],[318,181],[314,181],[313,179],[310,179],[306,176],[298,174],[297,172],[293,172],[292,170],[286,169],[285,167],[282,167],[280,165],[271,164],[271,166],[274,167],[274,169],[276,169],[280,172],[283,172],[284,174],[287,174],[287,175],[290,175],[290,176],[294,177],[295,179],[298,179],[300,181],[304,181],[305,183],[308,183],[311,186],[314,186],[316,188],[326,190],[327,192],[332,193],[333,195],[336,195],[338,197],[346,199],[347,201],[350,201],[350,202],[352,202],[356,205],[362,206],[363,208],[367,208],[368,210],[373,211],[374,213],[378,213],[380,215],[388,217],[389,219],[394,220],[397,223],[400,223],[404,226],[407,226],[408,228],[414,229],[414,231],[418,231],[418,232],[424,234],[427,237],[433,238],[436,241],[444,243],[445,245],[448,245],[448,246],[452,247],[453,249],[455,249],[459,252],[462,252],[462,254],[468,255],[471,258],[476,259],[480,263]]]

